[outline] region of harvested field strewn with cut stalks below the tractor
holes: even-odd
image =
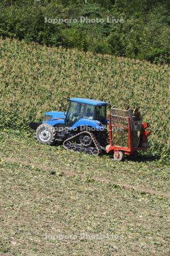
[[[19,131],[0,139],[0,252],[169,255],[168,166],[67,152]]]

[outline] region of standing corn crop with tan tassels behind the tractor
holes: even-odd
[[[169,66],[76,49],[0,39],[0,127],[28,129],[69,97],[139,106],[154,133],[152,154],[169,155]]]

